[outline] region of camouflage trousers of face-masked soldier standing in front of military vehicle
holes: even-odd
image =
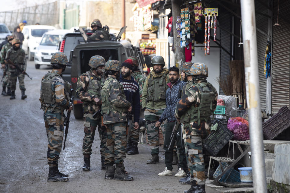
[[[85,157],[90,157],[92,154],[92,144],[94,142],[95,131],[98,126],[99,137],[101,141],[100,153],[101,156],[105,156],[106,142],[107,142],[107,130],[105,126],[101,125],[101,117],[98,116],[95,119],[92,117],[92,113],[84,114],[84,132],[85,137],[82,145],[82,154]]]

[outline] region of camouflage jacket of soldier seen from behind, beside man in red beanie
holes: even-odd
[[[111,75],[101,88],[102,113],[104,124],[127,122],[126,112],[131,106],[126,100],[122,84]]]

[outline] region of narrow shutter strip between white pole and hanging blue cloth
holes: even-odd
[[[260,5],[259,2],[255,1],[255,7],[259,8],[259,12],[263,14],[268,14],[268,9]],[[256,13],[256,27],[262,30],[267,34],[268,32],[268,18]],[[259,65],[259,86],[260,86],[260,102],[261,109],[266,110],[266,87],[267,80],[264,75],[264,61],[265,61],[265,52],[267,46],[267,36],[260,33],[257,33],[257,49],[258,49],[258,65]]]

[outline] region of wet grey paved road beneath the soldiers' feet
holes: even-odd
[[[158,177],[163,171],[164,154],[159,164],[147,165],[150,148],[140,144],[139,155],[128,155],[124,160],[126,170],[134,181],[122,182],[105,180],[101,170],[99,138],[96,134],[91,158],[91,172],[83,172],[82,139],[83,122],[75,119],[72,113],[66,149],[61,151],[59,168],[69,174],[69,182],[47,182],[47,136],[40,110],[40,81],[50,68],[34,68],[28,62],[25,77],[27,99],[21,100],[19,84],[16,99],[0,96],[0,192],[183,192],[189,185],[179,184],[174,176]],[[3,73],[0,72],[0,78]],[[162,149],[162,148],[161,148]],[[177,172],[177,166],[173,169]],[[207,186],[208,193],[217,192],[218,187]]]

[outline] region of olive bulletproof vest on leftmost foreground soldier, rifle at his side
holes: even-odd
[[[43,78],[43,80],[41,81],[41,87],[42,87],[42,98],[43,98],[43,102],[47,103],[47,104],[55,104],[56,100],[55,100],[55,93],[53,93],[52,89],[51,89],[51,84],[53,83],[53,79],[56,77],[60,77],[60,74],[57,74],[56,72],[48,72],[45,77]],[[65,82],[64,84],[64,93],[65,93],[65,99],[66,100],[70,100],[69,98],[69,93],[67,93],[70,90],[70,83]]]

